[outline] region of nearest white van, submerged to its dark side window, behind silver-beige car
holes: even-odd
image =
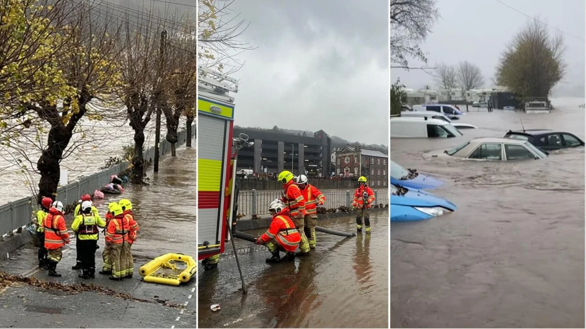
[[[449,138],[462,136],[452,124],[440,119],[391,118],[391,138]]]

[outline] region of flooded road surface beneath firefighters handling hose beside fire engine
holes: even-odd
[[[356,231],[355,217],[318,225]],[[264,246],[236,239],[248,294],[243,295],[233,249],[217,269],[199,273],[199,328],[386,328],[389,212],[373,212],[370,237],[317,232],[318,245],[295,262],[267,264]],[[250,231],[260,235],[261,231]],[[221,310],[210,311],[211,304]]]

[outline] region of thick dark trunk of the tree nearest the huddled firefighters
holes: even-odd
[[[40,172],[39,200],[43,197],[55,200],[57,197],[57,186],[60,179],[59,162],[63,157],[63,151],[69,144],[71,135],[69,129],[63,125],[53,126],[49,130],[47,147],[37,162],[37,169]]]

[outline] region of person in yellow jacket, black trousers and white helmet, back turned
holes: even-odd
[[[71,229],[76,232],[77,236],[77,256],[81,260],[82,279],[94,279],[96,277],[96,245],[98,244],[98,235],[100,229],[105,227],[106,223],[100,216],[96,216],[92,210],[91,201],[81,203],[81,214],[77,215]]]

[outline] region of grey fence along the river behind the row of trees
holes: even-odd
[[[195,131],[194,124],[192,126],[192,132]],[[177,133],[177,137],[177,145],[182,145],[187,139],[187,132],[185,130],[180,131]],[[193,133],[192,138],[195,138],[195,133]],[[159,143],[159,152],[161,155],[164,155],[169,151],[171,151],[171,143],[163,138]],[[145,160],[154,159],[154,157],[155,146],[145,150]],[[94,190],[101,189],[105,184],[110,183],[110,176],[121,173],[127,168],[128,162],[125,161],[104,169],[101,172],[93,173],[90,176],[78,177],[77,181],[59,187],[57,189],[57,198],[64,204],[73,204],[79,200],[82,194],[93,194]],[[36,196],[22,198],[0,206],[0,236],[29,224],[38,208]]]

